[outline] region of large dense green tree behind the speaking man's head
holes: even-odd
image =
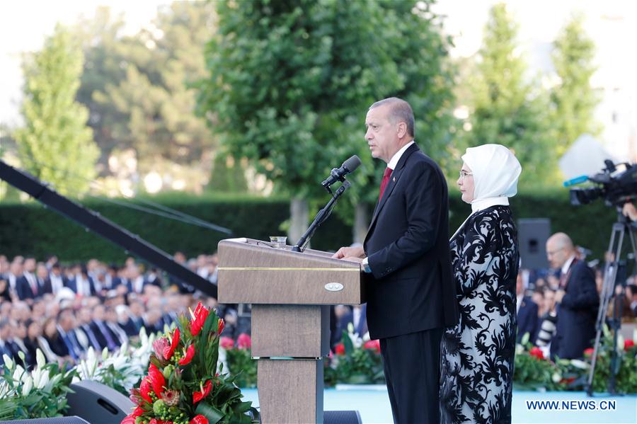
[[[292,194],[293,211],[321,198],[323,176],[352,154],[363,166],[351,177],[348,197],[368,200],[382,173],[363,139],[371,103],[403,96],[414,106],[425,151],[435,156],[444,145],[441,110],[450,99],[450,77],[429,4],[218,2],[200,113],[214,116],[210,123],[229,154],[248,158],[278,190]],[[293,227],[303,228],[303,219],[292,216]]]

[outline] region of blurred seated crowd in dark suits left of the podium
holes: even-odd
[[[175,258],[216,284],[215,255],[188,262],[180,253]],[[122,267],[95,259],[62,266],[55,257],[8,261],[0,255],[0,365],[5,354],[22,363],[22,351],[23,365],[33,367],[38,348],[48,361],[71,364],[86,357],[89,348],[113,352],[142,328],[163,331],[197,302],[217,309],[226,321],[223,336],[250,333],[249,317],[241,316],[236,305],[219,305],[192,287],[169,283],[132,258]]]

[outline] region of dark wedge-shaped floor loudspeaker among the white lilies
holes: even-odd
[[[91,424],[120,423],[132,413],[134,404],[126,396],[104,384],[83,380],[71,384],[75,393],[67,394],[69,415],[84,418]]]

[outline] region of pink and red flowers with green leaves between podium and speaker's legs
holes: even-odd
[[[343,331],[342,340],[335,345],[334,354],[326,361],[326,385],[384,384],[379,340],[369,340],[367,334],[360,338],[351,325],[348,331]]]

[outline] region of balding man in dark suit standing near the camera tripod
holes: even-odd
[[[573,241],[564,233],[549,237],[546,256],[551,268],[561,270],[560,287],[555,295],[557,328],[551,341],[551,357],[583,357],[595,338],[599,306],[595,273],[585,261],[578,260]]]

